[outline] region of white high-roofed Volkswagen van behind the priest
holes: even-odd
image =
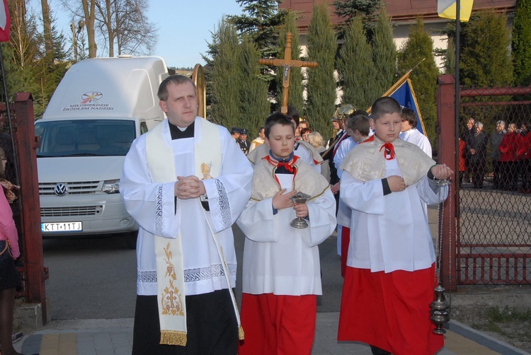
[[[120,175],[133,139],[164,120],[156,92],[166,76],[159,57],[85,59],[67,71],[35,122],[43,237],[136,237]]]

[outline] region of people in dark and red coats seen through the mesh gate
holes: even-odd
[[[531,134],[529,123],[496,121],[494,132],[484,132],[483,122],[467,120],[467,129],[459,137],[459,182],[471,182],[482,189],[486,178],[490,142],[492,188],[531,193]],[[519,187],[520,186],[520,187]]]

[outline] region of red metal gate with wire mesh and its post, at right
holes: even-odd
[[[453,86],[440,77],[440,155],[461,170],[455,211],[442,219],[443,238],[455,240],[442,252],[447,286],[531,284],[531,87],[461,90],[456,137]]]

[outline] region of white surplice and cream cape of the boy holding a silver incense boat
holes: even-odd
[[[254,165],[253,194],[236,223],[246,235],[242,286],[254,295],[320,295],[319,249],[336,228],[336,201],[325,178],[297,161],[295,182],[280,187],[275,167],[263,158]],[[280,175],[280,174],[279,174]],[[286,175],[293,177],[293,175]],[[285,181],[285,179],[280,179]],[[308,228],[293,228],[295,210],[273,214],[273,196],[287,188],[312,196]]]

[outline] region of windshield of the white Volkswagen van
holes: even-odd
[[[64,120],[35,122],[38,157],[125,156],[135,139],[135,121]]]

